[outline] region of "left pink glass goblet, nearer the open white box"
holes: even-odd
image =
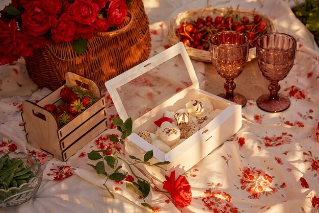
[[[226,93],[218,96],[245,106],[246,98],[235,93],[234,79],[243,72],[249,53],[249,38],[246,34],[235,31],[223,31],[210,37],[210,56],[217,73],[226,79]]]

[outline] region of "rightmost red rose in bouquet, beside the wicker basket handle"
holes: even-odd
[[[127,14],[126,1],[112,0],[108,10],[108,18],[111,25],[121,25]]]

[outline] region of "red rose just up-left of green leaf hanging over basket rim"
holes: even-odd
[[[51,28],[52,39],[56,42],[72,41],[75,33],[75,23],[70,14],[63,13],[57,24]]]

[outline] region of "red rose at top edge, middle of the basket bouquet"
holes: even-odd
[[[73,12],[75,21],[89,25],[95,21],[98,6],[92,4],[90,0],[75,0],[69,9]]]

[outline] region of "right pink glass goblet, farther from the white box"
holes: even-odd
[[[269,94],[257,99],[257,106],[267,112],[281,112],[290,106],[290,100],[279,94],[279,81],[294,65],[296,39],[284,33],[268,33],[257,39],[257,61],[262,75],[271,83]]]

